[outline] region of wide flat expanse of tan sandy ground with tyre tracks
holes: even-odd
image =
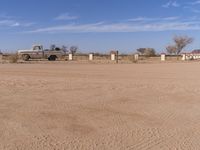
[[[2,150],[199,150],[200,63],[0,65]]]

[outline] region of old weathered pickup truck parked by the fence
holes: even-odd
[[[42,45],[34,45],[30,50],[18,50],[17,53],[19,58],[22,58],[24,61],[28,61],[29,59],[55,61],[66,56],[66,52],[61,49],[44,50]]]

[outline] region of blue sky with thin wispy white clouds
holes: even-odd
[[[0,49],[77,45],[82,52],[165,52],[175,35],[200,48],[200,0],[1,0]]]

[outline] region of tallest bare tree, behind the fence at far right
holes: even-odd
[[[193,38],[188,36],[175,36],[173,40],[175,45],[168,45],[166,49],[169,54],[176,55],[180,54],[187,45],[193,42]]]

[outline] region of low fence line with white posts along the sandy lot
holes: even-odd
[[[8,60],[13,54],[0,54],[1,62]],[[145,56],[139,54],[68,54],[65,59],[67,61],[88,61],[88,62],[112,62],[112,63],[137,63],[137,62],[164,62],[164,61],[183,61],[200,59],[200,54],[181,54],[181,55],[166,55],[164,53],[156,56]]]

